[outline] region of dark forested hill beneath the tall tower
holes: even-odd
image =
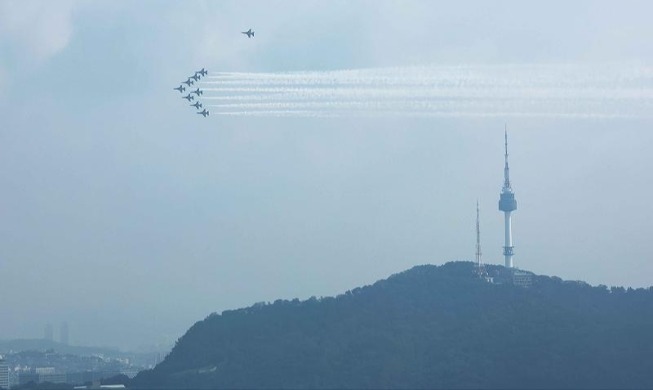
[[[424,265],[197,322],[136,388],[653,388],[653,289]]]

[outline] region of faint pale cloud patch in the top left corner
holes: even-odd
[[[0,39],[29,62],[50,58],[70,42],[76,5],[75,0],[0,2]]]

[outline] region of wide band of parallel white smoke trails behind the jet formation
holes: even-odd
[[[653,68],[497,65],[211,74],[212,114],[650,117]]]

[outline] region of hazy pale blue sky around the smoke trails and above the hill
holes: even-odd
[[[0,339],[67,321],[73,344],[163,348],[212,312],[472,260],[477,200],[483,260],[502,264],[504,126],[516,266],[653,285],[652,13],[649,1],[0,0]],[[510,80],[515,66],[567,65],[624,69],[624,84],[635,69],[637,114],[202,118],[172,90],[202,67]]]

